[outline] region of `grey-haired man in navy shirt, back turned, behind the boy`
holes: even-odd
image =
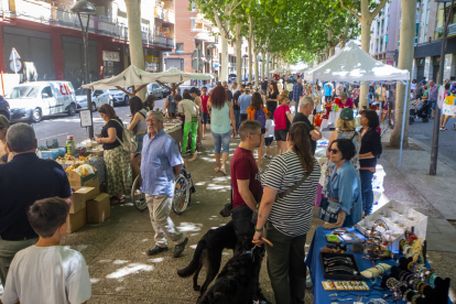
[[[72,188],[62,165],[36,156],[37,141],[32,126],[17,123],[9,128],[7,145],[14,158],[0,165],[0,281],[3,286],[14,254],[39,239],[29,222],[30,206],[55,196],[72,203]]]

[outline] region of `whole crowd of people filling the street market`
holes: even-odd
[[[119,143],[122,121],[112,107],[104,105],[98,112],[106,123],[97,142],[105,149],[108,192],[116,199],[123,202],[123,191],[141,172],[141,191],[145,194],[155,231],[155,243],[146,254],[166,251],[170,240],[175,245],[173,257],[177,258],[188,238],[176,228],[170,211],[175,176],[183,167],[184,158],[194,155],[210,130],[215,172],[227,174],[230,143],[239,138],[240,143],[229,162],[236,234],[251,238],[258,246],[263,243],[263,237],[274,245],[265,243],[275,301],[303,303],[304,243],[310,237],[318,185],[324,195],[340,204],[337,221],[325,224],[324,228],[354,226],[362,215],[372,211],[372,175],[381,154],[379,118],[373,110],[361,111],[362,129],[358,132],[352,111],[356,90],[351,90],[349,98],[339,88],[343,110],[337,120],[338,130],[330,134],[328,162],[321,167],[314,154],[322,132],[314,127],[312,116],[324,102],[323,93],[326,99],[328,86],[325,85],[318,96],[319,87],[312,88],[300,77],[287,77],[282,84],[262,79],[258,88],[236,83],[228,88],[228,84],[222,83],[210,91],[206,87],[185,89],[182,96],[172,91],[166,98],[164,116],[183,120],[182,149],[164,132],[164,116],[153,110],[153,96],[144,102],[133,97],[129,130],[139,144],[130,155]],[[310,96],[313,89],[317,91],[315,98]],[[333,86],[329,89],[332,96],[327,100],[334,98],[337,90]],[[276,148],[272,153],[274,141]],[[0,204],[3,303],[26,303],[30,293],[20,286],[32,284],[30,280],[34,282],[36,294],[44,298],[41,303],[86,302],[90,297],[90,282],[84,258],[77,251],[59,247],[72,195],[62,166],[37,159],[33,128],[25,123],[11,127],[1,116],[0,144],[4,162],[0,165],[0,192],[8,194]],[[265,170],[262,170],[262,160],[269,161]],[[31,184],[26,193],[20,191],[25,180]],[[258,221],[253,224],[256,211]],[[40,264],[37,259],[44,262]],[[40,267],[28,268],[32,264]],[[66,268],[67,264],[72,267]],[[48,269],[61,271],[50,274]],[[65,284],[56,284],[52,292],[44,294],[42,291],[47,289],[42,284],[50,281]]]

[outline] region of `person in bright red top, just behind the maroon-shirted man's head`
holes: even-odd
[[[274,111],[274,137],[276,141],[275,156],[287,151],[286,135],[289,133],[289,126],[293,122],[293,117],[290,112],[289,91],[284,89],[278,97],[279,108]],[[289,123],[287,121],[289,120]]]

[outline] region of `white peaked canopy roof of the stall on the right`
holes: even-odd
[[[349,42],[339,53],[306,70],[304,79],[311,83],[409,80],[410,73],[376,61],[355,42]]]

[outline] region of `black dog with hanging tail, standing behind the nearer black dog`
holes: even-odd
[[[187,278],[195,273],[193,276],[193,289],[199,291],[203,295],[220,270],[221,252],[225,248],[235,250],[236,243],[237,237],[232,220],[220,228],[210,229],[198,241],[191,263],[186,268],[177,270],[177,274]],[[207,265],[207,274],[205,282],[199,286],[198,274],[204,264]]]

